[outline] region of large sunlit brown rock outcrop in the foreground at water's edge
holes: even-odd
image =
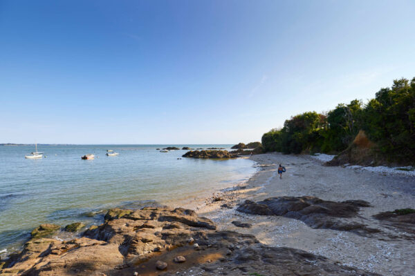
[[[83,237],[30,240],[0,264],[0,275],[376,275],[215,229],[183,208],[114,209]]]

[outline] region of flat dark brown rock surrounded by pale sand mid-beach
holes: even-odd
[[[263,201],[245,201],[237,210],[252,215],[277,215],[299,219],[311,228],[329,228],[351,231],[358,235],[378,233],[378,229],[368,228],[353,217],[361,207],[370,204],[363,200],[342,202],[325,201],[317,197],[271,197]]]

